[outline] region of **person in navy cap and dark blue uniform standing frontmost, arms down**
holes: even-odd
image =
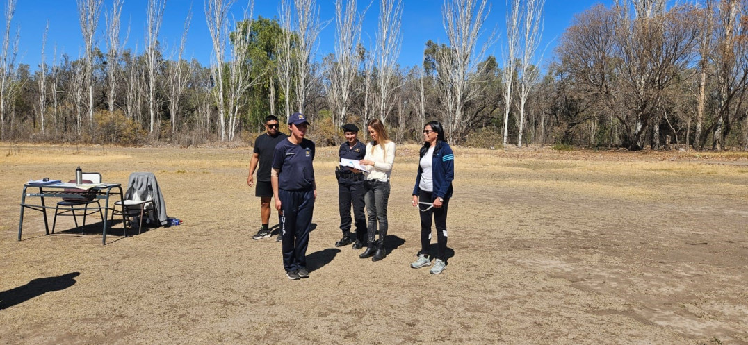
[[[275,146],[270,173],[275,209],[281,214],[283,268],[288,279],[308,278],[307,246],[312,226],[314,199],[314,143],[304,138],[306,116],[295,113],[288,118],[291,135]]]

